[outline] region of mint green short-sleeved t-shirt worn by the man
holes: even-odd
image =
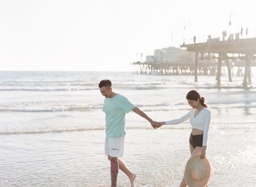
[[[120,137],[126,134],[125,115],[134,107],[134,104],[120,94],[104,99],[103,111],[106,113],[106,137]]]

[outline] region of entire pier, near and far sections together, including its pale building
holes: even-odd
[[[180,47],[182,54],[175,54],[175,59],[165,55],[164,50],[169,48],[155,50],[154,56],[147,56],[146,62],[132,63],[132,73],[194,75],[195,82],[198,75],[212,75],[216,76],[218,85],[221,84],[220,76],[228,73],[230,82],[232,76],[244,76],[243,87],[251,84],[251,67],[256,66],[256,38],[222,41],[209,38],[207,42]]]

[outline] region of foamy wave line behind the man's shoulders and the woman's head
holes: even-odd
[[[175,111],[190,110],[191,107],[186,101],[163,102],[163,103],[134,103],[143,111]],[[224,108],[256,108],[256,98],[248,99],[248,101],[237,100],[235,103],[229,101],[209,102],[209,109]],[[70,105],[45,105],[44,103],[24,103],[20,105],[2,105],[0,112],[53,112],[53,111],[91,111],[92,109],[102,110],[103,103],[90,104],[70,104]]]

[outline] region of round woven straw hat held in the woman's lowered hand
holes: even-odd
[[[212,174],[212,167],[205,157],[199,155],[191,157],[185,167],[185,181],[189,187],[206,187]]]

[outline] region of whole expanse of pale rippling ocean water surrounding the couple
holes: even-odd
[[[206,156],[208,186],[256,183],[256,74],[252,89],[232,88],[242,77],[153,76],[131,72],[0,72],[0,186],[107,187],[110,163],[104,154],[104,97],[98,83],[112,80],[155,121],[185,115],[186,94],[206,97],[212,119]],[[126,115],[124,157],[137,187],[178,186],[190,157],[189,121],[153,129],[134,112]],[[118,187],[129,187],[119,171]]]

